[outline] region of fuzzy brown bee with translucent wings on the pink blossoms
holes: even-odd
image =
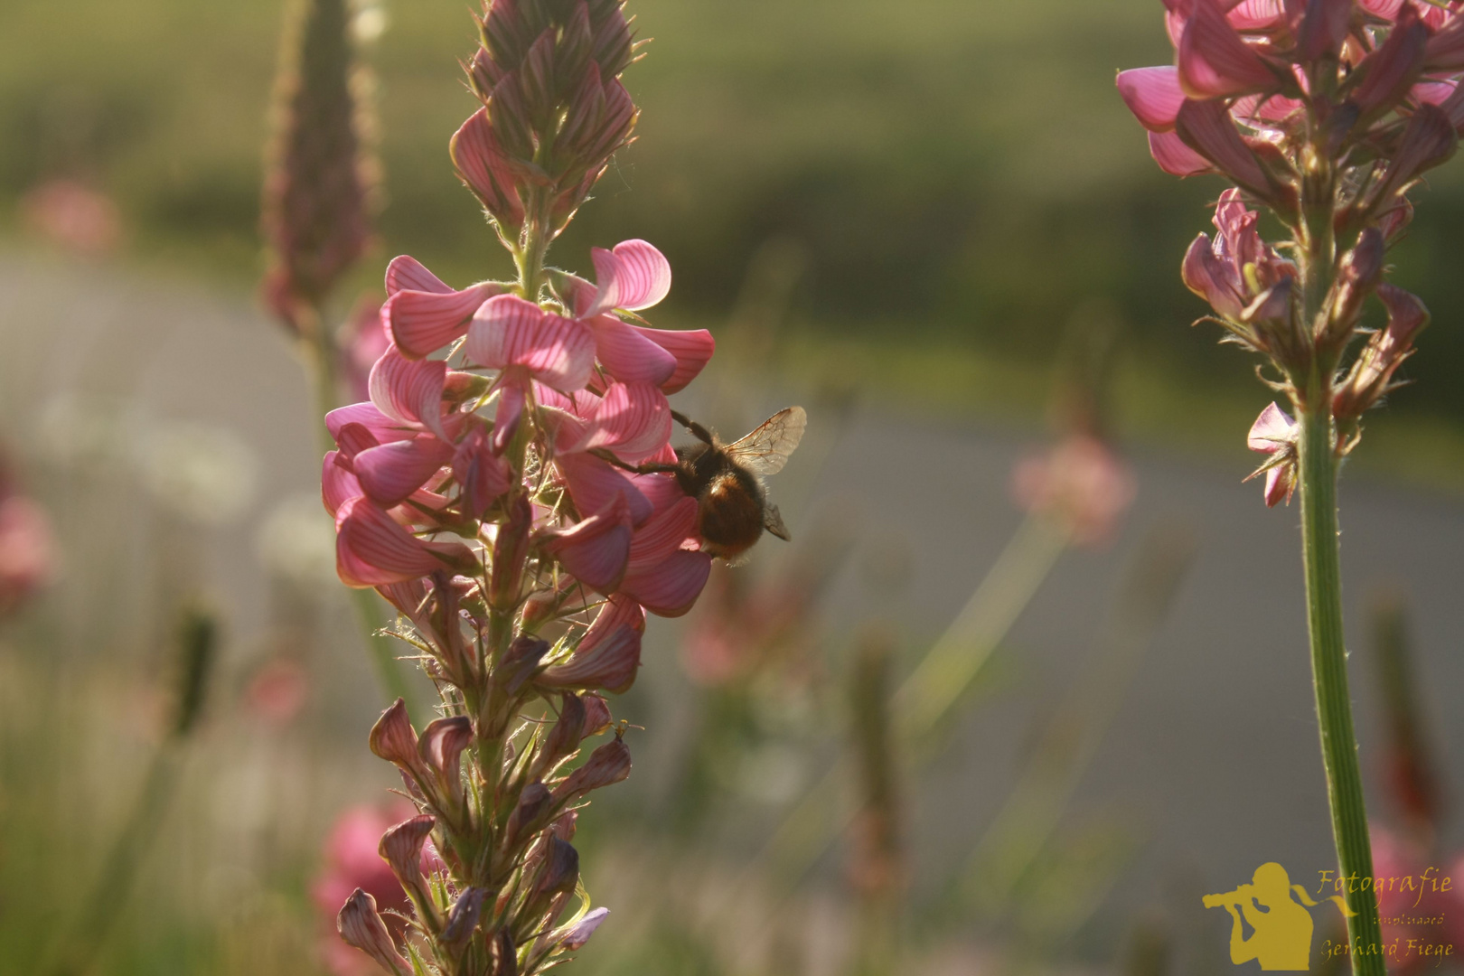
[[[788,528],[758,476],[776,474],[804,436],[808,416],[789,407],[769,417],[752,433],[733,443],[722,440],[701,424],[675,417],[701,443],[676,451],[676,483],[697,499],[697,533],[703,552],[736,559],[767,530],[788,538]]]

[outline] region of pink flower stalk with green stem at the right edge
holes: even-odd
[[[1268,455],[1266,505],[1301,493],[1307,628],[1332,834],[1342,876],[1373,875],[1347,694],[1337,540],[1338,467],[1364,411],[1397,389],[1427,323],[1423,303],[1383,281],[1388,247],[1413,218],[1408,192],[1446,161],[1464,129],[1464,4],[1230,4],[1167,0],[1173,67],[1120,72],[1118,91],[1176,176],[1234,183],[1183,278],[1225,339],[1274,367],[1250,449]],[[1290,240],[1268,244],[1268,208]],[[1287,255],[1287,256],[1282,256]],[[1376,297],[1385,320],[1364,323]],[[1360,347],[1360,348],[1359,348]],[[1348,353],[1356,348],[1350,363]],[[1354,973],[1383,972],[1372,891],[1350,897]],[[1263,963],[1265,964],[1265,963]]]

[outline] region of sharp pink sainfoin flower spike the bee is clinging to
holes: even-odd
[[[584,797],[631,771],[605,694],[634,683],[647,613],[690,610],[710,571],[666,397],[714,344],[641,318],[672,284],[644,240],[593,249],[591,275],[545,265],[638,117],[619,0],[492,0],[480,29],[483,105],[449,148],[518,275],[454,287],[392,260],[359,332],[381,344],[366,397],[326,416],[338,575],[395,607],[442,694],[426,726],[398,699],[372,729],[416,815],[363,831],[375,874],[337,872],[329,900],[351,958],[386,972],[534,976],[608,916],[571,910]]]

